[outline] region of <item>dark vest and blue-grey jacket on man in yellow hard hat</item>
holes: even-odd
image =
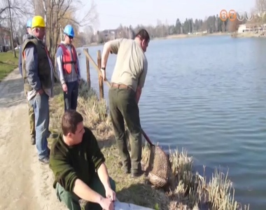
[[[32,48],[32,44],[34,48]],[[29,49],[25,52],[25,49]],[[50,89],[55,82],[54,69],[51,71],[46,46],[36,36],[28,35],[22,44],[22,77],[26,91]]]

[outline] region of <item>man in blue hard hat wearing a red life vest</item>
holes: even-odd
[[[76,110],[78,105],[78,84],[80,68],[78,55],[72,45],[74,29],[71,25],[64,27],[64,41],[59,44],[56,52],[57,72],[64,91],[64,111]]]

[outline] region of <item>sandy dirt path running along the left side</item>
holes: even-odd
[[[0,83],[0,209],[66,209],[57,201],[48,165],[29,142],[27,101],[18,69]]]

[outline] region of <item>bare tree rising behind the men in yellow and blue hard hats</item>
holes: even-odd
[[[43,5],[43,8],[36,5]],[[62,28],[65,25],[71,24],[78,34],[79,27],[94,26],[98,21],[97,6],[94,1],[80,20],[75,18],[76,11],[86,8],[80,0],[31,0],[31,7],[34,9],[34,13],[42,15],[45,19],[45,42],[52,59],[55,58],[57,45],[61,41]]]

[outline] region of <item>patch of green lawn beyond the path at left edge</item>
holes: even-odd
[[[0,52],[0,82],[18,67],[18,53],[19,51],[16,50],[17,57],[14,57],[12,51]]]

